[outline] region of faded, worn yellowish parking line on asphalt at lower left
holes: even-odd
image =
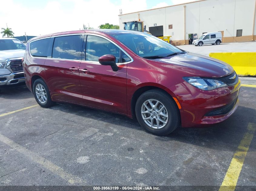
[[[51,161],[48,161],[47,159],[39,156],[38,154],[22,147],[21,145],[13,142],[11,139],[5,137],[4,135],[0,134],[0,141],[14,148],[18,152],[24,154],[25,156],[30,158],[32,161],[42,165],[48,170],[51,170],[53,173],[57,174],[58,176],[62,177],[64,180],[68,181],[68,183],[70,184],[82,183],[82,180],[80,178],[66,172],[61,167],[58,167],[57,165],[53,164]],[[85,183],[85,181],[83,181],[83,183]]]

